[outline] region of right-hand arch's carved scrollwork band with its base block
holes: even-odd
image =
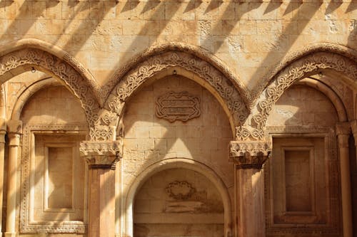
[[[349,57],[348,57],[349,56]],[[357,57],[326,51],[313,51],[294,60],[273,76],[252,109],[251,126],[238,127],[237,139],[263,139],[266,120],[276,101],[293,83],[318,73],[333,70],[350,80],[357,79]]]

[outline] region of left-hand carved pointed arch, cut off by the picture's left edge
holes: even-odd
[[[32,67],[59,78],[79,98],[89,127],[98,123],[99,102],[93,78],[87,78],[85,69],[72,56],[63,51],[46,48],[42,41],[21,41],[0,53],[0,82]],[[46,48],[46,51],[43,49]],[[76,65],[76,66],[75,66]],[[91,135],[92,137],[92,135]]]

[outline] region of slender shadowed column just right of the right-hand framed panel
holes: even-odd
[[[343,237],[353,237],[351,172],[348,150],[348,138],[350,133],[351,126],[348,122],[343,122],[336,125],[336,134],[338,139],[338,158],[340,159],[341,170]]]

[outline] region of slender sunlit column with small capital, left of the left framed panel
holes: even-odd
[[[6,237],[16,236],[16,194],[17,189],[17,159],[22,133],[22,122],[20,120],[9,120],[9,158],[7,172],[7,207],[6,207]]]

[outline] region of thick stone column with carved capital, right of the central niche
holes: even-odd
[[[230,159],[236,175],[236,236],[265,237],[264,177],[261,167],[271,152],[271,143],[261,141],[230,144]]]

